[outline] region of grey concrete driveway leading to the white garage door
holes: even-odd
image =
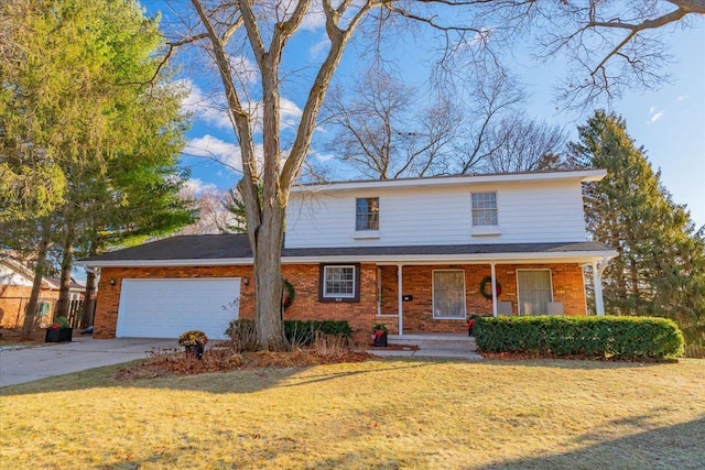
[[[176,339],[74,337],[72,342],[0,349],[0,386],[129,362],[154,348],[180,346]]]

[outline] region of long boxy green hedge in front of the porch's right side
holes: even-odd
[[[683,356],[683,334],[654,317],[478,317],[480,351],[585,356],[620,360]]]

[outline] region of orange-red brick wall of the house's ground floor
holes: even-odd
[[[500,300],[511,300],[517,313],[517,269],[551,269],[553,296],[563,302],[566,315],[585,315],[583,270],[577,264],[497,265],[497,280],[502,286]],[[398,332],[397,266],[360,265],[359,303],[318,302],[318,264],[285,264],[283,276],[295,291],[295,299],[284,313],[285,319],[347,320],[358,338],[367,337],[375,323],[384,323],[391,334]],[[466,310],[468,314],[491,315],[492,303],[479,294],[489,265],[409,265],[403,267],[403,294],[413,298],[403,302],[404,332],[464,332],[465,320],[434,320],[432,280],[434,270],[465,272]],[[378,316],[378,272],[381,278],[381,314]],[[96,338],[116,335],[122,278],[174,277],[242,277],[252,278],[252,266],[173,266],[173,267],[104,267],[98,288],[94,323]],[[110,284],[115,280],[115,285]],[[254,283],[240,285],[240,318],[252,318]]]

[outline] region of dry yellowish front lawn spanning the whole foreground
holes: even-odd
[[[368,361],[0,390],[1,468],[702,468],[705,361]]]

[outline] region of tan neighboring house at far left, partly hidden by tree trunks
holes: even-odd
[[[30,302],[34,272],[17,259],[0,256],[0,326],[20,328],[24,324],[24,309]],[[54,316],[61,280],[44,277],[36,307],[37,325],[47,326]],[[84,297],[85,286],[72,280],[70,300]]]

